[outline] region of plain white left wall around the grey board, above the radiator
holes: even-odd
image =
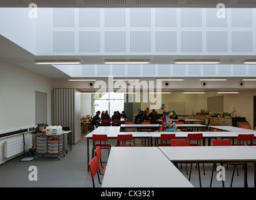
[[[51,124],[51,89],[50,79],[0,60],[0,133],[35,125],[35,91],[47,93]]]

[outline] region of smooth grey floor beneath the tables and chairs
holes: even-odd
[[[68,151],[65,157],[61,156],[58,160],[56,156],[39,156],[34,161],[20,160],[24,156],[14,158],[7,163],[0,165],[0,187],[92,187],[90,172],[87,171],[87,154],[86,139],[82,136],[81,141],[72,146],[72,151]],[[110,139],[110,144],[115,146],[116,140]],[[136,146],[141,146],[141,140],[136,140]],[[91,147],[90,147],[91,149]],[[91,156],[91,154],[90,154]],[[103,159],[107,159],[107,151],[103,150]],[[36,166],[38,169],[38,181],[29,181],[29,166]],[[188,178],[185,164],[178,164],[178,169]],[[225,187],[230,186],[233,166],[225,166]],[[210,178],[212,174],[212,164],[205,163],[205,175],[203,175],[203,167],[200,164],[202,187],[210,186]],[[188,174],[190,172],[190,164],[188,164]],[[238,167],[239,176],[235,171],[232,187],[243,187],[243,169]],[[222,187],[222,182],[217,181],[217,172],[213,176],[212,187]],[[253,164],[248,164],[248,187],[253,187]],[[101,181],[103,176],[101,176]],[[190,182],[195,187],[199,187],[198,169],[195,164],[192,168],[192,176]],[[95,179],[96,187],[100,187],[98,179]]]

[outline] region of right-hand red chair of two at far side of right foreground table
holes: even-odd
[[[212,141],[212,146],[232,146],[230,139],[213,139]],[[233,174],[232,174],[232,179],[231,179],[231,183],[230,183],[230,187],[232,187],[232,183],[233,183],[233,176],[235,173],[235,167],[242,165],[244,166],[246,163],[221,163],[221,165],[223,164],[227,164],[227,165],[232,165],[234,166],[233,168]],[[213,170],[216,167],[216,163],[213,163],[213,168],[212,168],[212,177],[213,177]],[[247,183],[246,183],[247,184]],[[224,181],[222,181],[222,186],[224,187]],[[211,183],[210,183],[210,187],[212,187],[212,178],[211,178]]]

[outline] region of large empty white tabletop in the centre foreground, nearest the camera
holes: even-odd
[[[193,187],[155,147],[111,148],[101,187]]]

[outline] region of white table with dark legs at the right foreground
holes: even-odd
[[[170,159],[177,163],[252,162],[254,164],[254,187],[256,186],[256,148],[250,146],[186,146],[159,147]],[[245,166],[247,182],[247,166]]]

